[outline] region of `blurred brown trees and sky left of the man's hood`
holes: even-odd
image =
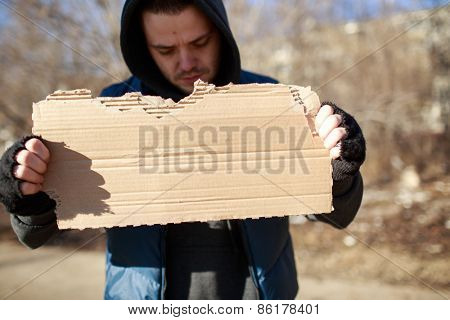
[[[0,103],[16,136],[30,130],[31,102],[57,89],[88,86],[98,93],[127,75],[119,49],[121,1],[9,6],[2,8],[8,23],[0,25]]]

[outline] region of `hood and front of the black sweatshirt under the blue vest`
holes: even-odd
[[[178,101],[185,94],[162,75],[147,49],[141,26],[142,4],[145,2],[134,0],[125,3],[120,35],[123,57],[132,74],[140,79],[146,94]],[[213,22],[221,36],[220,66],[214,84],[239,83],[239,50],[222,1],[200,0],[193,4]],[[169,224],[166,228],[166,298],[257,297],[235,222]]]

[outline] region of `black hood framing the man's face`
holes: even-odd
[[[131,73],[143,82],[148,90],[146,94],[178,101],[186,94],[164,78],[147,49],[139,12],[144,1],[151,0],[127,0],[123,7],[120,47],[124,60]],[[194,5],[211,19],[222,35],[221,64],[214,83],[220,86],[229,82],[238,83],[241,72],[239,49],[231,33],[222,0],[194,0]]]

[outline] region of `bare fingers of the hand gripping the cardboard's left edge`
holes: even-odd
[[[21,193],[26,196],[41,191],[50,160],[50,151],[42,141],[36,138],[28,140],[15,160],[18,164],[13,168],[13,175],[22,180],[19,185]]]

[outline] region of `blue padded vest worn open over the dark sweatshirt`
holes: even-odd
[[[269,77],[242,71],[240,83],[276,83]],[[143,91],[136,77],[104,89],[117,97]],[[260,299],[294,299],[298,291],[289,220],[245,219],[238,222],[250,274]],[[105,299],[163,299],[166,228],[161,225],[107,230]]]

